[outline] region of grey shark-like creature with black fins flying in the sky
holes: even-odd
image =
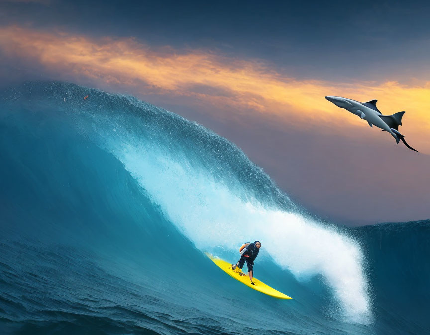
[[[368,102],[359,102],[352,99],[342,98],[327,95],[325,97],[328,101],[335,104],[337,107],[344,108],[348,112],[359,116],[361,119],[367,121],[370,127],[376,126],[381,128],[383,131],[390,133],[395,139],[396,143],[402,140],[403,144],[411,150],[418,153],[418,150],[412,148],[405,141],[405,136],[400,134],[399,126],[402,125],[402,116],[405,111],[395,113],[393,115],[382,115],[381,111],[376,107],[378,100],[371,100]]]

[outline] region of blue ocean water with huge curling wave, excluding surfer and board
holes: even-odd
[[[0,93],[0,160],[0,334],[430,333],[430,221],[319,222],[178,115],[24,83]],[[293,300],[204,254],[255,239],[255,276]]]

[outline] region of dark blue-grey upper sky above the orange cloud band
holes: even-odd
[[[135,36],[154,46],[220,49],[269,60],[300,78],[378,80],[393,72],[420,77],[430,51],[427,1],[59,0],[48,6],[0,5],[2,24]]]

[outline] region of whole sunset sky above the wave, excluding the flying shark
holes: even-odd
[[[0,87],[132,94],[240,147],[296,203],[346,225],[430,218],[426,1],[0,0]],[[324,99],[406,111],[420,151]]]

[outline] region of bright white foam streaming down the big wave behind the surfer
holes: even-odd
[[[210,171],[166,152],[128,144],[113,152],[168,218],[205,250],[208,245],[236,249],[252,236],[299,280],[321,274],[333,289],[343,315],[366,323],[369,297],[359,245],[336,229],[297,213],[243,202],[238,182],[215,181]],[[243,229],[246,227],[246,229]],[[239,242],[238,242],[239,241]]]

